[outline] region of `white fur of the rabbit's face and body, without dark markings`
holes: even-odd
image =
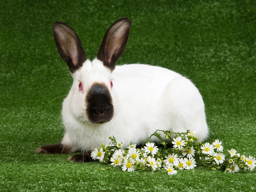
[[[65,135],[62,144],[73,151],[89,151],[109,136],[127,146],[144,142],[157,129],[186,132],[190,129],[199,140],[208,135],[204,103],[193,83],[171,70],[144,65],[116,66],[114,71],[102,62],[86,60],[73,74],[72,88],[63,102]],[[110,86],[113,82],[113,88]],[[83,83],[83,92],[78,84]],[[94,82],[105,83],[113,99],[114,116],[110,122],[93,124],[86,117],[85,97]],[[157,139],[155,138],[155,141]]]

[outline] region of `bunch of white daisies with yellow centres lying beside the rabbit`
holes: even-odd
[[[162,136],[159,132],[163,132]],[[190,130],[186,133],[175,133],[157,130],[147,141],[137,148],[130,143],[126,148],[122,142],[117,143],[114,137],[109,137],[109,146],[101,145],[95,148],[91,157],[102,163],[120,167],[123,171],[135,171],[151,169],[152,171],[165,169],[168,175],[174,175],[177,170],[194,169],[204,167],[208,170],[219,169],[223,172],[235,173],[245,170],[252,171],[256,166],[256,160],[252,156],[240,156],[235,149],[228,150],[224,155],[222,141],[216,139],[213,143],[198,142]],[[161,141],[162,147],[157,147],[151,139]],[[173,138],[173,139],[172,139]],[[170,147],[169,145],[172,145]]]

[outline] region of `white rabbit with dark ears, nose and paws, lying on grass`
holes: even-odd
[[[68,160],[87,162],[90,151],[110,143],[109,136],[123,146],[142,144],[157,129],[190,129],[199,141],[207,137],[204,102],[189,79],[152,65],[115,65],[126,48],[130,27],[127,17],[115,21],[90,61],[76,32],[64,22],[53,24],[57,50],[69,67],[73,85],[62,105],[61,143],[44,145],[36,153],[82,151]]]

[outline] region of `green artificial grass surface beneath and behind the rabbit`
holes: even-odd
[[[132,27],[118,63],[154,64],[192,79],[204,98],[207,141],[219,138],[225,151],[255,157],[255,13],[255,1],[2,1],[0,191],[255,191],[255,170],[196,168],[168,176],[34,153],[61,141],[58,97],[72,84],[52,24],[72,26],[92,59],[108,27],[125,16]]]

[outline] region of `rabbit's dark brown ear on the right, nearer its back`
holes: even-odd
[[[131,20],[123,17],[114,22],[106,32],[101,46],[97,53],[97,59],[111,71],[115,69],[117,59],[119,59],[126,47],[131,27]]]

